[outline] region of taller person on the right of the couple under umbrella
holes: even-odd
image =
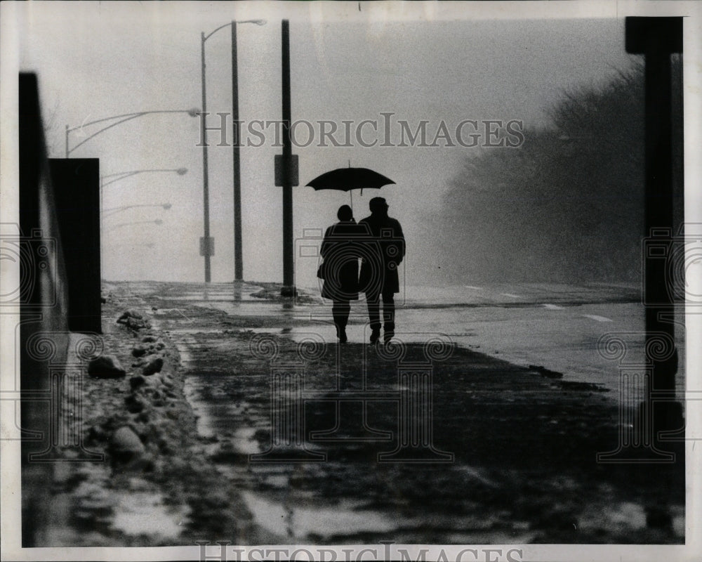
[[[367,229],[372,242],[361,263],[359,290],[366,293],[371,325],[371,344],[380,338],[380,297],[383,298],[383,341],[395,335],[395,293],[399,293],[397,267],[405,253],[404,234],[397,219],[388,216],[388,203],[383,197],[369,201],[371,215],[359,222]]]

